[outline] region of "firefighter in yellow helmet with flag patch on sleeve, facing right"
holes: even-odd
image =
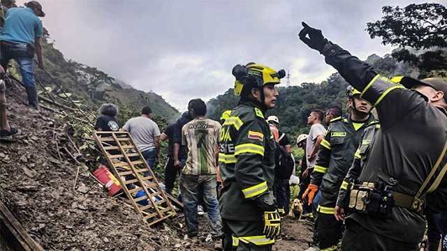
[[[286,75],[248,63],[233,68],[237,107],[223,123],[219,199],[225,250],[272,250],[280,217],[273,196],[274,139],[265,112],[275,106],[276,84]]]

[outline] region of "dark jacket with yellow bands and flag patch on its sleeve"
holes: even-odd
[[[263,111],[252,102],[240,102],[223,123],[220,147],[221,217],[262,220],[255,200],[272,190],[275,147]]]

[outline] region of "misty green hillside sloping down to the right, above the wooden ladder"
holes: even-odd
[[[104,102],[113,102],[128,115],[138,114],[140,108],[145,105],[152,108],[155,116],[161,116],[168,121],[179,115],[177,109],[156,93],[133,89],[97,68],[66,60],[64,55],[54,48],[53,43],[47,43],[45,40],[43,56],[45,70],[54,77],[56,83],[42,70],[36,70],[41,91],[45,87],[47,91],[58,96],[66,96],[63,94],[65,92],[87,110],[95,110]],[[15,76],[20,78],[20,74]],[[62,89],[59,89],[58,85]]]

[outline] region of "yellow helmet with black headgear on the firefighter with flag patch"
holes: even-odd
[[[235,95],[240,96],[244,85],[251,87],[263,87],[265,84],[279,84],[281,78],[286,76],[285,70],[278,72],[267,66],[257,63],[247,63],[246,66],[233,67],[235,81]]]

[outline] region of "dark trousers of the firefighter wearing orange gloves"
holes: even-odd
[[[343,234],[343,222],[335,219],[333,214],[316,213],[316,233],[318,248],[337,245]]]

